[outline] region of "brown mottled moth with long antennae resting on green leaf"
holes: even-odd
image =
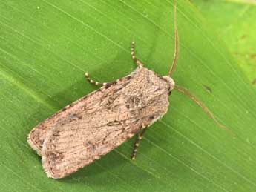
[[[179,36],[174,6],[175,51],[171,69],[160,76],[143,67],[134,54],[137,64],[130,75],[114,82],[93,81],[101,85],[81,99],[73,102],[30,131],[28,143],[42,156],[42,166],[51,178],[63,178],[79,168],[94,162],[138,133],[132,159],[135,159],[140,140],[147,128],[160,119],[168,110],[169,96],[176,89],[190,96],[197,105],[214,119],[210,110],[183,87],[171,79],[177,64]],[[226,128],[214,121],[222,128]]]

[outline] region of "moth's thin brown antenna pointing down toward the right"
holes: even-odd
[[[186,88],[180,87],[175,85],[174,89],[180,91],[181,93],[186,94],[187,96],[189,96],[197,105],[199,105],[204,112],[206,112],[206,114],[211,117],[211,119],[214,120],[214,122],[223,130],[228,131],[232,136],[235,136],[234,133],[232,132],[232,130],[230,130],[229,128],[227,128],[225,125],[222,125],[220,122],[217,121],[217,119],[215,119],[214,115],[211,113],[211,111],[209,110],[209,108],[207,108],[205,105],[203,105],[202,102],[200,102],[199,99],[197,99],[195,96],[193,96]]]

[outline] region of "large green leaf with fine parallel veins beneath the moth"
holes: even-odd
[[[48,179],[27,145],[39,122],[96,87],[131,73],[137,55],[165,75],[174,53],[173,1],[1,1],[2,191],[255,191],[256,92],[189,1],[179,1],[174,79],[236,135],[173,91],[168,113],[134,139],[65,179]],[[228,13],[226,13],[228,14]],[[211,91],[209,91],[210,89]]]

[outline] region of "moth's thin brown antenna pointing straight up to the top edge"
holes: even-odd
[[[172,73],[174,73],[174,70],[177,64],[178,55],[179,55],[179,33],[177,30],[177,0],[174,1],[174,32],[175,32],[174,60],[172,61],[171,69],[168,73],[168,76],[171,76]]]

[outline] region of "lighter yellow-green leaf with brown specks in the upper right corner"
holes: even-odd
[[[256,1],[194,0],[203,16],[214,24],[249,81],[256,85]]]

